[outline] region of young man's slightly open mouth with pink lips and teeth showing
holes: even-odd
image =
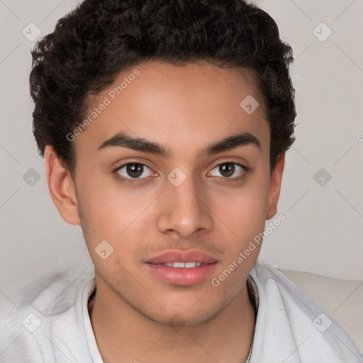
[[[196,250],[168,251],[146,262],[154,277],[181,286],[200,284],[215,271],[217,264],[217,259]]]

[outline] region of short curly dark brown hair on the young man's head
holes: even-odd
[[[244,0],[85,0],[31,54],[38,152],[44,157],[52,145],[71,174],[74,146],[66,135],[82,123],[89,96],[148,60],[252,69],[270,128],[270,172],[295,140],[292,49],[271,16]]]

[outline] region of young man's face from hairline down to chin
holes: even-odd
[[[240,106],[247,96],[259,103],[252,113]],[[74,184],[65,176],[70,192],[51,195],[82,225],[97,284],[159,323],[210,320],[241,293],[259,247],[216,278],[276,213],[284,160],[270,175],[253,78],[146,62],[118,74],[89,115],[95,107],[72,141]]]

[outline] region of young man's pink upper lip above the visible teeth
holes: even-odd
[[[162,252],[160,255],[147,260],[147,262],[150,264],[168,264],[171,262],[201,262],[202,264],[211,264],[217,262],[217,260],[206,253],[197,250],[172,250]]]

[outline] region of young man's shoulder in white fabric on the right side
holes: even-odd
[[[262,362],[363,362],[344,328],[284,274],[256,262],[250,275],[259,295],[255,357]]]

